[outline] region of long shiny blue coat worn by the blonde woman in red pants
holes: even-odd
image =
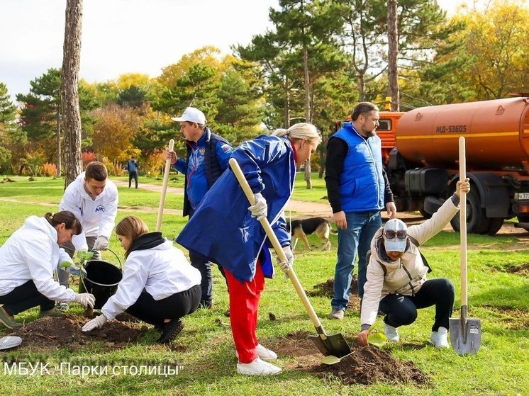
[[[284,207],[294,191],[296,164],[291,143],[284,137],[262,135],[243,142],[233,151],[254,193],[267,200],[268,220],[279,243],[290,245],[286,231]],[[265,276],[272,277],[274,268],[267,247],[265,230],[251,216],[243,189],[228,167],[206,193],[194,215],[177,237],[189,250],[199,251],[210,261],[226,268],[239,281],[255,276],[257,258]]]

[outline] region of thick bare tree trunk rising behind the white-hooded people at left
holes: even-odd
[[[82,171],[78,91],[82,9],[82,0],[66,1],[65,44],[60,86],[62,125],[65,135],[65,187]]]

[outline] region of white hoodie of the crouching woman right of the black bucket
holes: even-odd
[[[200,281],[200,271],[189,264],[172,241],[166,240],[157,247],[129,254],[118,290],[101,312],[107,319],[114,319],[138,300],[144,288],[158,301],[200,285]]]

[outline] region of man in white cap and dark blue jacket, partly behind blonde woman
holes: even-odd
[[[172,118],[180,123],[180,131],[186,138],[186,159],[177,157],[174,151],[165,152],[174,169],[186,175],[184,182],[184,216],[191,217],[213,186],[213,183],[228,168],[233,148],[223,137],[211,133],[206,127],[206,116],[198,108],[188,107],[181,117]],[[211,264],[198,251],[189,251],[191,265],[202,276],[201,305],[213,309],[213,278]],[[218,267],[225,278],[222,267]]]

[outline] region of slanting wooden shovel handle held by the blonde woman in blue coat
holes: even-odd
[[[243,171],[240,169],[240,166],[234,158],[230,158],[230,167],[233,173],[235,174],[235,177],[239,181],[240,186],[243,188],[243,191],[245,193],[246,198],[250,201],[252,205],[255,205],[255,198],[254,194],[252,192],[252,189],[250,188],[250,185],[248,184],[248,181],[246,180]],[[265,229],[265,232],[267,234],[268,239],[270,242],[272,242],[272,246],[274,247],[277,256],[279,256],[279,260],[285,263],[287,261],[286,254],[283,251],[283,248],[281,244],[279,243],[279,239],[277,239],[276,234],[274,234],[274,230],[272,230],[272,226],[268,222],[268,219],[265,217],[261,220],[259,220],[262,227]],[[301,299],[301,302],[303,302],[303,305],[305,306],[305,309],[308,313],[308,317],[311,318],[311,322],[316,327],[316,330],[318,331],[319,336],[321,336],[322,339],[327,338],[327,334],[325,334],[325,330],[323,329],[323,325],[321,324],[320,319],[318,318],[318,315],[316,315],[316,312],[314,311],[314,308],[311,305],[311,302],[308,301],[307,295],[305,294],[304,288],[301,286],[301,283],[299,283],[299,279],[296,276],[296,273],[294,272],[294,268],[289,268],[289,271],[286,273],[289,276],[289,279],[292,281],[292,284],[294,285],[294,289],[296,289],[296,293],[298,293],[299,298]]]

